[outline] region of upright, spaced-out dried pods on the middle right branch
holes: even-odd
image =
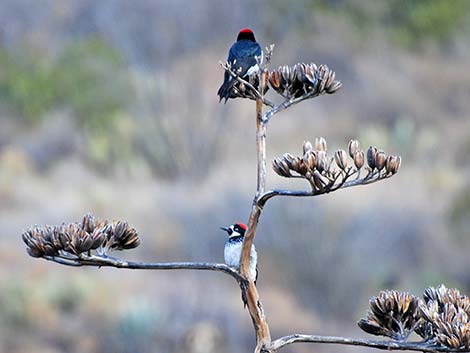
[[[356,178],[351,180],[351,185],[367,184],[390,177],[400,169],[401,157],[387,156],[385,152],[371,146],[367,151],[367,166],[365,162],[366,155],[361,150],[359,141],[351,140],[348,152],[340,149],[330,157],[327,142],[320,137],[315,139],[314,145],[305,141],[301,156],[285,153],[276,158],[273,169],[282,177],[307,179],[314,192],[330,192],[347,186],[348,179],[352,179],[353,175]],[[360,172],[363,169],[366,174],[361,177]]]

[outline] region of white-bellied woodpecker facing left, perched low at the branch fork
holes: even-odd
[[[225,230],[229,236],[224,247],[225,263],[231,267],[239,269],[246,225],[243,223],[236,223],[229,227],[221,227],[220,229]],[[251,246],[250,252],[250,277],[253,278],[256,283],[258,278],[258,254],[256,253],[254,244]]]

